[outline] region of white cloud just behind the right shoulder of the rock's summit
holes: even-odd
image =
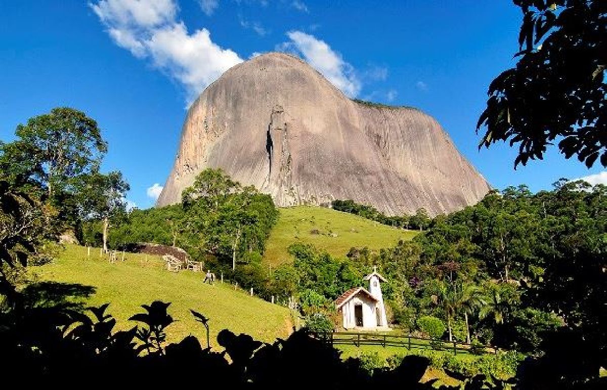
[[[287,36],[291,41],[278,45],[277,49],[300,53],[308,64],[348,97],[358,95],[361,81],[356,76],[354,67],[345,62],[327,43],[300,31],[290,31]]]

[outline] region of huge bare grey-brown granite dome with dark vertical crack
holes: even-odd
[[[192,104],[157,206],[219,167],[279,206],[353,199],[388,215],[438,214],[490,190],[429,115],[356,103],[283,53],[232,67]]]

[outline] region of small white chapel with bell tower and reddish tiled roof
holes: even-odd
[[[369,289],[354,287],[335,300],[338,313],[342,313],[344,329],[389,330],[385,316],[381,282],[385,278],[373,267],[373,272],[365,276]]]

